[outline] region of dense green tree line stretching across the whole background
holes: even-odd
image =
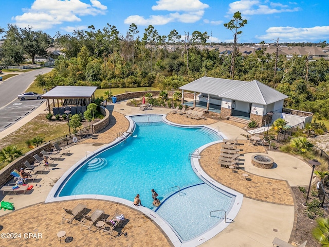
[[[221,54],[208,50],[208,33],[172,30],[161,36],[152,25],[139,34],[137,25],[120,34],[116,26],[107,24],[102,30],[91,25],[88,30],[72,34],[57,33],[54,38],[41,31],[8,25],[0,54],[1,63],[21,63],[25,56],[43,55],[49,46],[59,47],[65,56],[56,59],[55,68],[36,79],[41,87],[57,85],[96,85],[109,87],[158,87],[177,89],[202,76],[259,80],[289,98],[285,107],[316,113],[329,119],[329,65],[324,59],[309,56],[287,58],[266,53],[261,46],[255,54],[242,56],[239,37],[247,21],[236,12],[224,26],[232,32],[231,49]],[[325,42],[322,42],[325,44]],[[171,45],[169,49],[168,45]],[[265,44],[261,42],[260,44]],[[203,48],[199,48],[200,45]],[[279,39],[277,40],[279,46]]]

